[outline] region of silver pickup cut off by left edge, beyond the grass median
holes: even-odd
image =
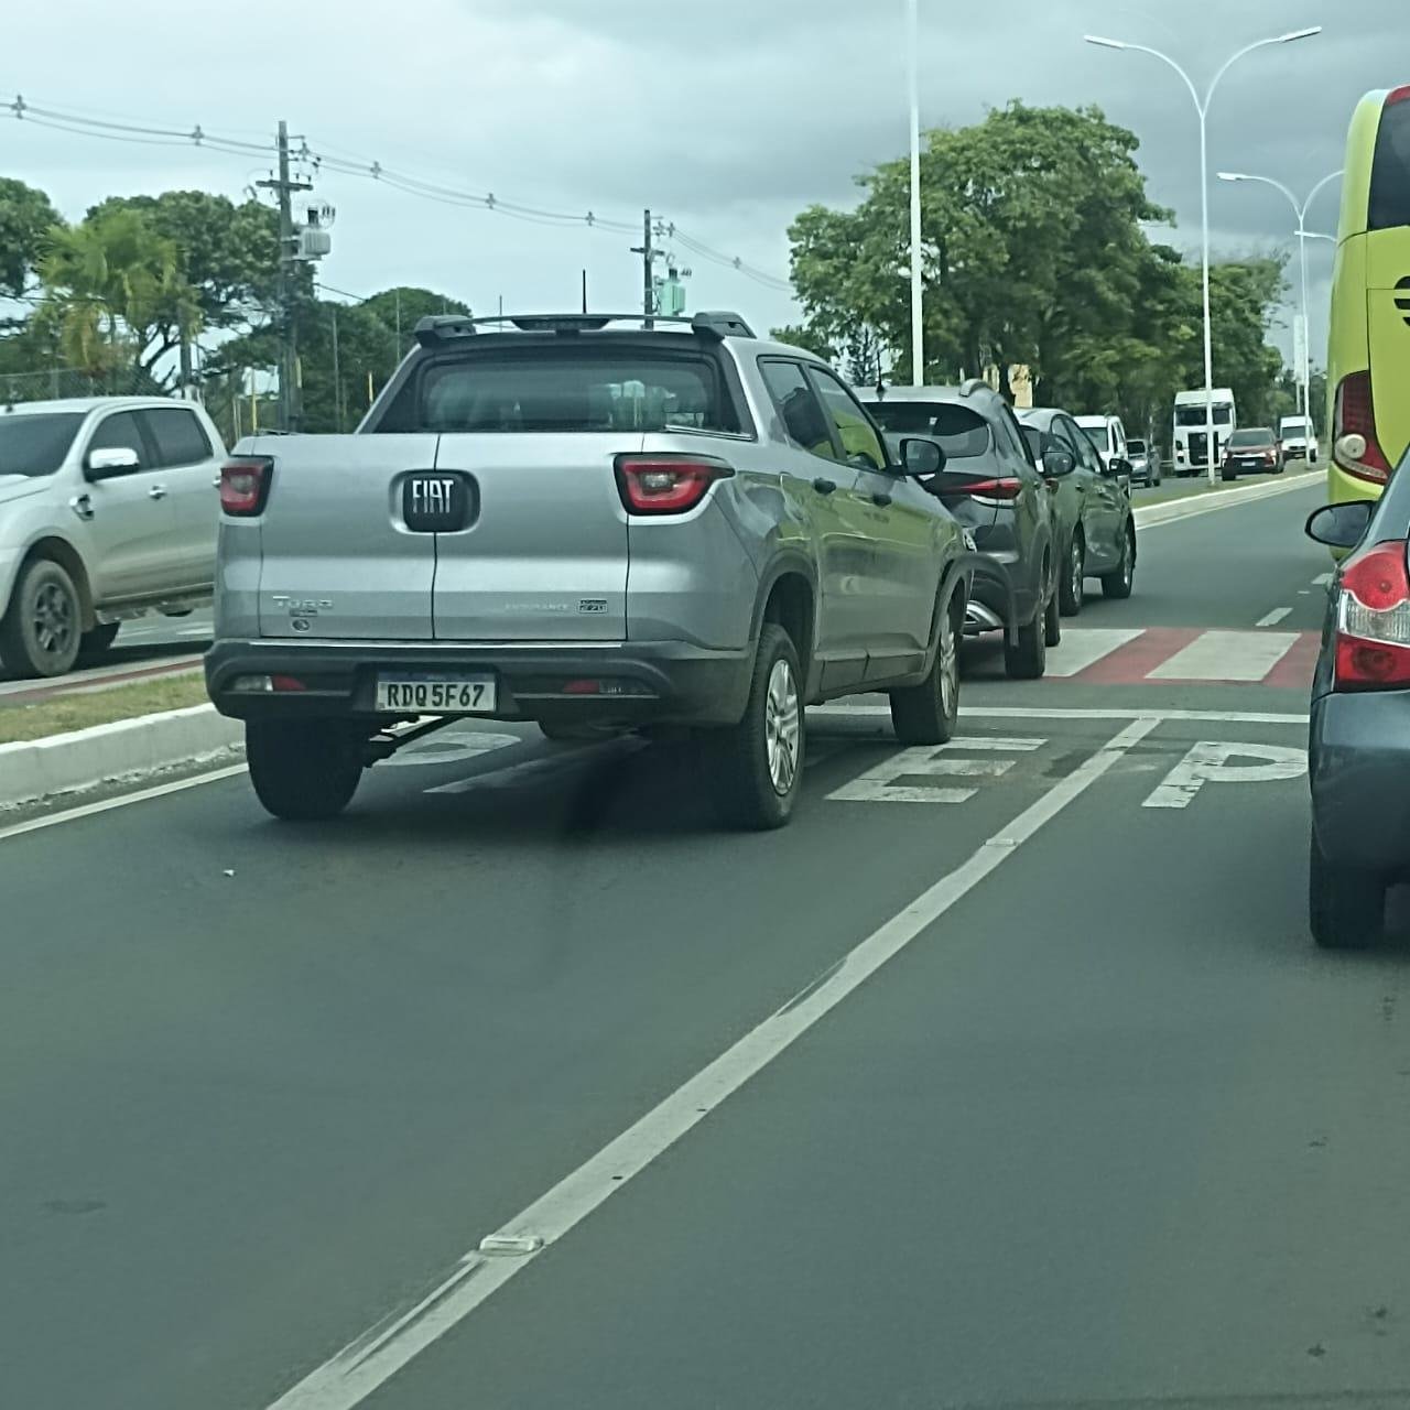
[[[62,675],[210,601],[226,447],[192,402],[0,406],[0,663]]]

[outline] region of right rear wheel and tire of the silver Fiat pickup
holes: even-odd
[[[792,637],[766,622],[737,725],[701,739],[715,807],[729,826],[754,832],[781,828],[802,778],[802,671]]]

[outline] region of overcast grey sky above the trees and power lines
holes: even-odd
[[[643,206],[778,276],[788,221],[850,203],[853,176],[907,144],[904,0],[37,0],[4,6],[0,96],[90,116],[259,141],[286,117],[310,145],[457,189],[558,212],[640,220]],[[200,37],[209,16],[212,37]],[[365,17],[362,17],[365,16]],[[921,0],[922,121],[979,120],[1010,97],[1101,106],[1141,140],[1152,197],[1198,244],[1198,145],[1179,78],[1083,32],[1163,49],[1203,87],[1238,47],[1325,32],[1242,59],[1210,110],[1210,165],[1304,193],[1342,161],[1372,87],[1410,80],[1406,0]],[[0,123],[0,173],[78,217],[107,195],[200,186],[238,196],[268,164]],[[337,207],[327,283],[422,283],[492,312],[640,300],[627,237],[551,228],[323,172]],[[1214,183],[1220,251],[1292,248],[1273,190]],[[1334,231],[1335,186],[1308,216]],[[1325,343],[1331,245],[1308,247],[1313,350]],[[788,320],[788,296],[688,255],[692,307]],[[1296,262],[1290,265],[1296,272]],[[1290,310],[1287,320],[1290,321]],[[1285,347],[1287,329],[1276,334]]]

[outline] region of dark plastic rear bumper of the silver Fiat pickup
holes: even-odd
[[[498,708],[486,719],[565,725],[729,725],[740,719],[753,649],[715,651],[682,642],[216,642],[206,689],[234,719],[365,719],[376,709],[381,671],[494,671]],[[285,675],[303,689],[237,691],[241,675]],[[599,681],[596,694],[564,694],[570,681]]]

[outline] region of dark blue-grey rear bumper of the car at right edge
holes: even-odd
[[[1410,873],[1410,691],[1313,701],[1307,771],[1328,862]]]

